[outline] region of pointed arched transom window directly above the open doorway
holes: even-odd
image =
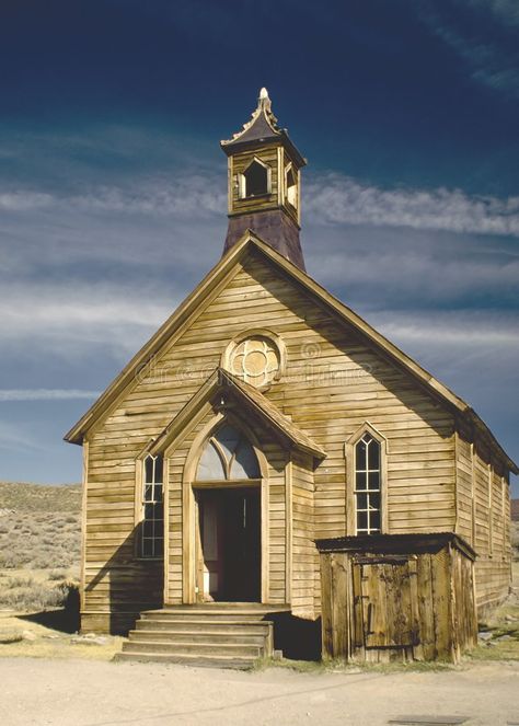
[[[196,481],[260,479],[260,464],[249,440],[233,426],[220,426],[207,441],[196,472]]]

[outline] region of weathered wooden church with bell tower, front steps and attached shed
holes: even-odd
[[[245,666],[315,630],[325,657],[455,657],[509,589],[518,469],[305,273],[305,160],[265,89],[221,148],[223,256],[66,436],[82,631],[183,662]]]

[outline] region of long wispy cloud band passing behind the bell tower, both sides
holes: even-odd
[[[519,235],[519,196],[471,196],[447,187],[384,189],[338,173],[310,177],[303,195],[305,215],[321,222]],[[100,186],[72,196],[18,189],[0,194],[0,208],[5,211],[53,208],[53,214],[114,215],[122,223],[132,216],[159,215],[195,218],[196,224],[206,217],[221,219],[226,205],[221,178],[211,173],[148,180],[135,186]]]

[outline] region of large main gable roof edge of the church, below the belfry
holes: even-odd
[[[331,292],[325,290],[319,283],[312,279],[307,273],[293,265],[289,260],[280,255],[269,244],[261,240],[254,232],[247,230],[243,238],[234,244],[218,262],[215,267],[206,275],[201,283],[187,296],[175,312],[161,325],[157,333],[147,344],[134,356],[122,372],[114,379],[108,388],[101,394],[97,401],[80,418],[80,420],[67,433],[65,440],[71,443],[81,443],[85,433],[101,416],[109,408],[112,403],[123,391],[135,382],[137,373],[152,359],[154,355],[166,344],[173,334],[186,322],[193,318],[208,296],[224,283],[232,275],[237,265],[242,263],[245,257],[258,253],[268,264],[276,267],[290,280],[302,287],[311,297],[324,306],[338,320],[354,326],[365,339],[374,346],[379,352],[389,357],[400,368],[408,372],[417,380],[431,395],[440,400],[449,410],[461,414],[463,418],[474,426],[488,442],[503,457],[507,466],[515,474],[519,473],[517,464],[508,457],[494,437],[486,424],[480,418],[471,406],[455,395],[447,385],[438,381],[425,368],[419,366],[413,358],[403,353],[393,343],[376,331],[360,315],[337,300]]]

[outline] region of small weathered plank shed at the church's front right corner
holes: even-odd
[[[472,548],[449,533],[319,540],[324,658],[457,661],[477,642]]]

